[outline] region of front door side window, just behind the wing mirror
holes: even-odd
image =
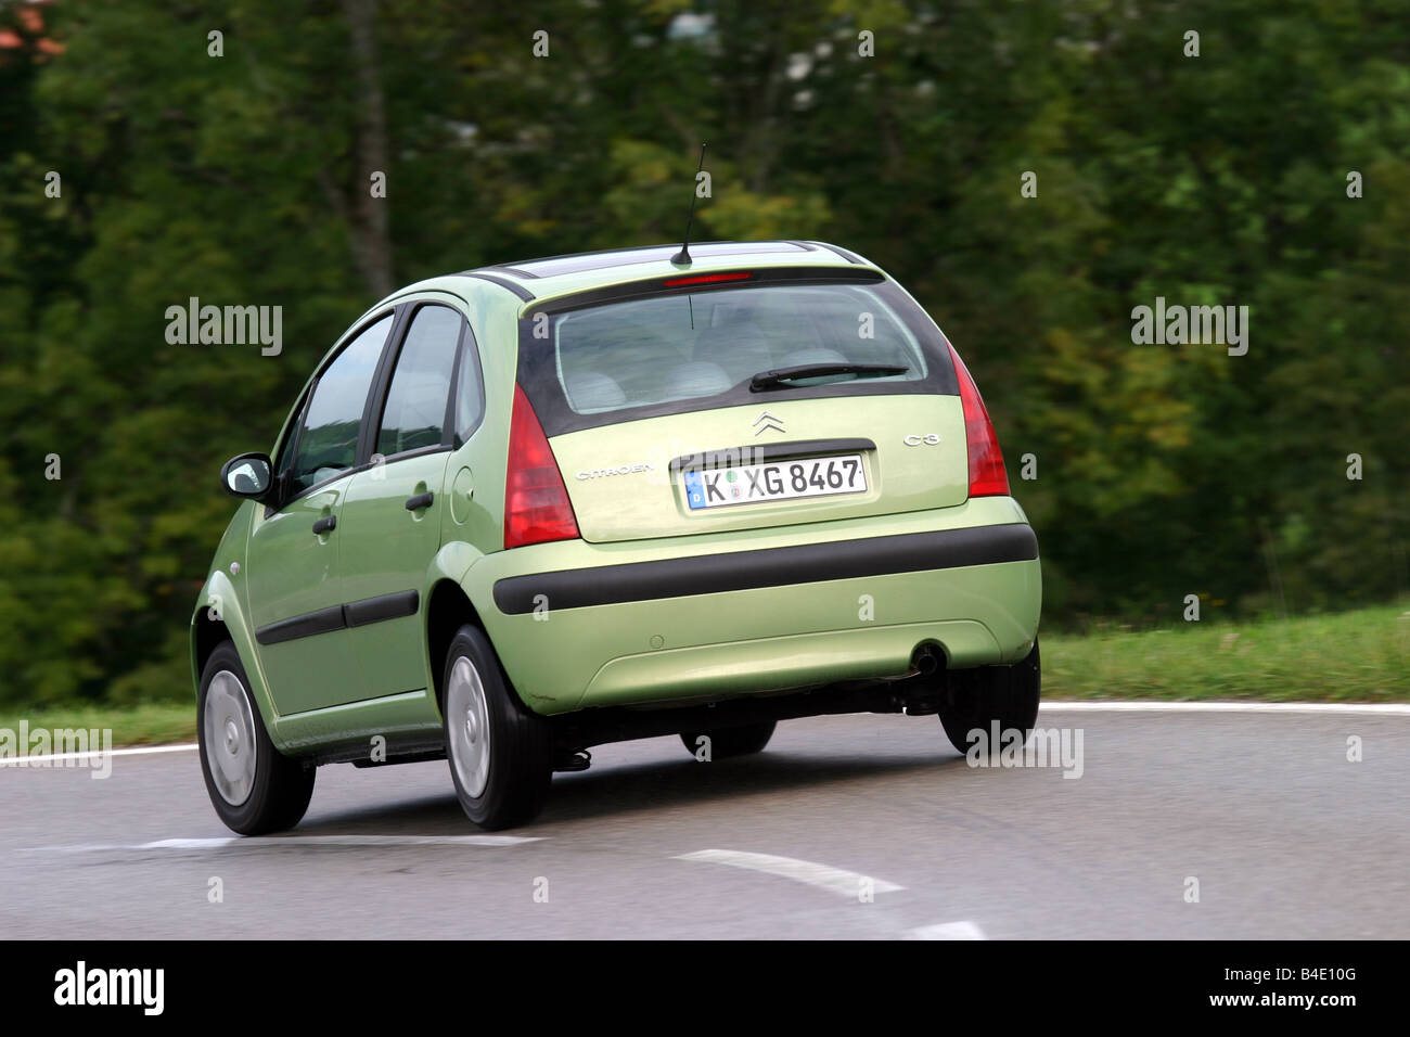
[[[392,315],[388,313],[352,339],[319,375],[290,466],[295,494],[357,463],[362,409],[391,330]]]

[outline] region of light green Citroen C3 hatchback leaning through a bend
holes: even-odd
[[[396,292],[224,466],[190,656],[230,828],[298,824],[334,762],[446,758],[503,828],[603,742],[1032,728],[1038,543],[940,329],[843,248],[675,251]]]

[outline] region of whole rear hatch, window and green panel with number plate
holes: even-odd
[[[540,303],[520,322],[519,384],[589,542],[967,495],[949,347],[874,271],[678,275]]]

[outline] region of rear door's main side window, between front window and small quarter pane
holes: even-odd
[[[412,316],[382,408],[376,453],[391,457],[441,442],[460,326],[460,313],[447,306],[422,306]]]

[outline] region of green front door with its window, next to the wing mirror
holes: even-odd
[[[340,539],[386,312],[321,368],[279,453],[279,505],[257,512],[245,586],[259,663],[281,715],[362,698],[343,614]]]

